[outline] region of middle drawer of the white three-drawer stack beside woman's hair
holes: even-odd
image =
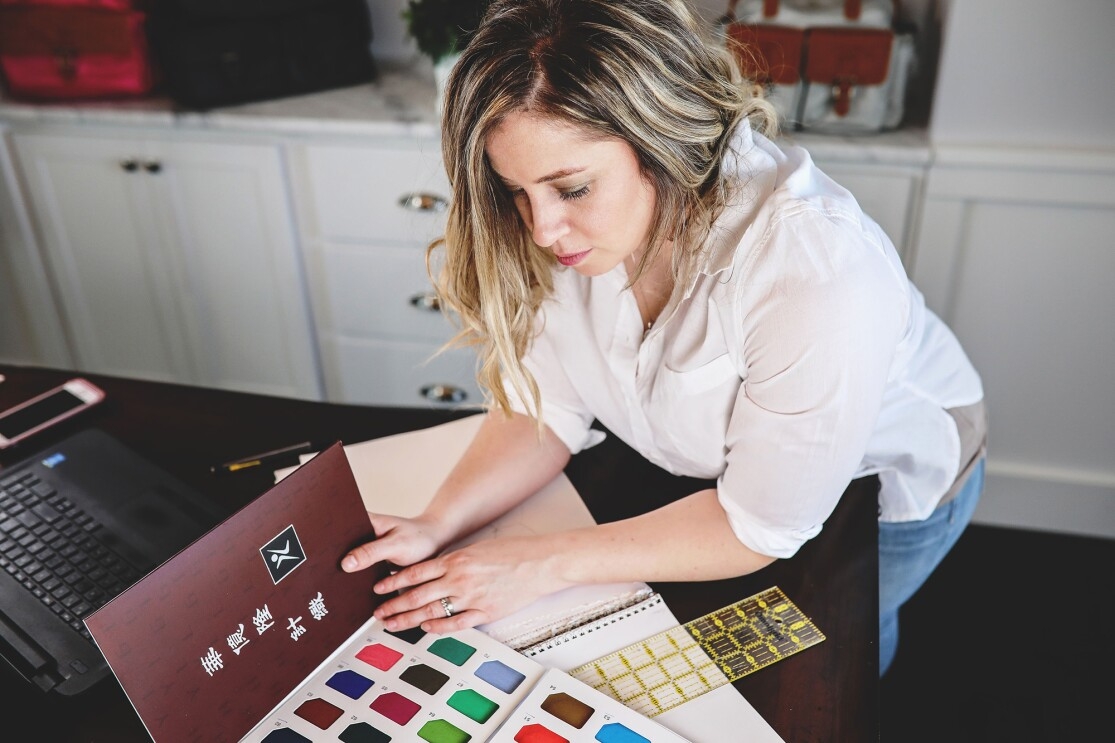
[[[321,262],[331,331],[436,342],[453,335],[450,322],[433,303],[423,248],[324,245]]]

